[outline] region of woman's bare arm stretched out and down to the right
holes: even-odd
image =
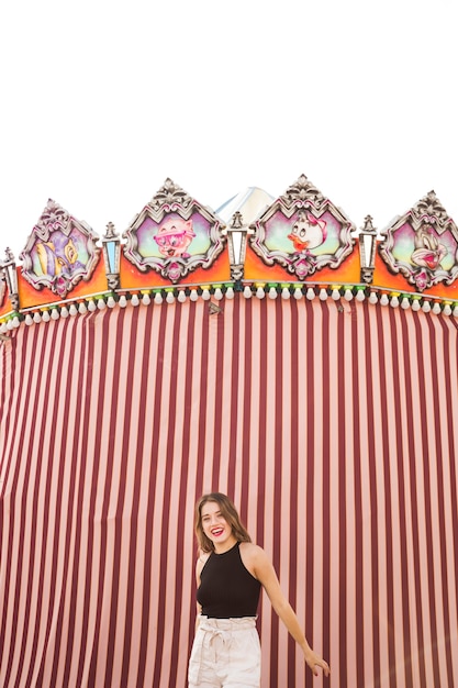
[[[305,635],[301,629],[298,617],[295,615],[291,604],[286,599],[281,591],[280,584],[275,572],[275,568],[269,561],[267,554],[261,547],[257,545],[249,546],[247,554],[247,568],[254,574],[266,590],[269,600],[284,623],[289,633],[301,647],[305,662],[312,669],[313,674],[317,676],[317,667],[321,667],[325,676],[329,675],[329,667],[327,663],[320,657],[309,645]],[[245,557],[244,557],[245,558]]]

